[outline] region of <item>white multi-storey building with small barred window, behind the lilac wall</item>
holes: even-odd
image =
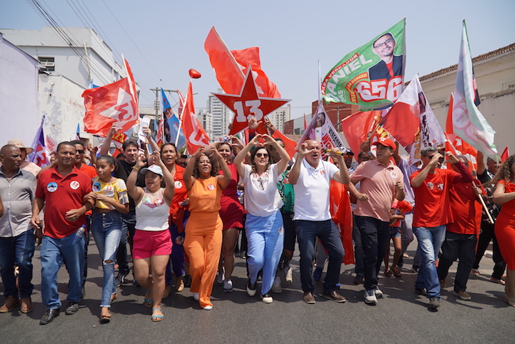
[[[83,133],[84,101],[81,97],[93,81],[109,84],[125,77],[113,51],[87,27],[52,27],[37,30],[0,29],[5,39],[36,58],[40,65],[38,108],[45,115],[45,132],[56,142],[73,139],[78,124]],[[34,132],[35,134],[35,132]]]

